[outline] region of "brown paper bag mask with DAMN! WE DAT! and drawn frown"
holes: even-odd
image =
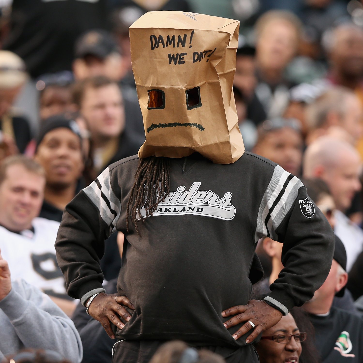
[[[232,85],[239,22],[148,12],[130,26],[132,70],[146,141],[139,157],[197,151],[218,164],[244,152]]]

